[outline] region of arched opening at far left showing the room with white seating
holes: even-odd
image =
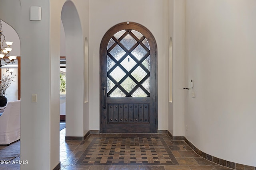
[[[6,64],[1,59],[0,79],[4,77],[11,78],[10,84],[5,80],[1,80],[0,83],[6,84],[1,86],[1,90],[6,88],[5,97],[7,98],[7,104],[0,108],[0,160],[9,161],[12,159],[20,159],[20,38],[14,28],[1,20],[1,49],[7,47],[6,41],[13,42],[10,48],[10,55],[17,56],[13,63]],[[5,42],[3,42],[3,35],[5,36]],[[8,62],[8,57],[5,57]],[[5,65],[6,64],[6,65]],[[13,77],[13,78],[12,78]],[[2,95],[1,95],[2,96]],[[11,108],[12,107],[12,108]],[[7,151],[7,152],[6,152]]]

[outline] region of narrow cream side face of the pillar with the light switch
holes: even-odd
[[[62,4],[50,1],[49,56],[50,56],[50,169],[60,162],[60,10]],[[42,8],[42,13],[44,8]],[[47,34],[46,34],[47,35]],[[46,112],[47,113],[47,112]],[[58,136],[57,136],[58,135]],[[22,148],[22,145],[21,145]],[[35,164],[38,166],[38,163]],[[31,167],[32,168],[32,167]],[[41,168],[41,167],[40,167]],[[25,169],[25,167],[24,167]],[[28,169],[26,167],[26,169]],[[39,169],[39,168],[38,168]]]

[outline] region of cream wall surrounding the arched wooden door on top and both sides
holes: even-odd
[[[90,0],[90,130],[100,129],[99,51],[112,26],[132,21],[148,28],[158,48],[158,130],[168,129],[168,0]]]

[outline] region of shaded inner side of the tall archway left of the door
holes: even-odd
[[[66,40],[66,137],[83,137],[84,42],[78,11],[72,1],[64,3],[61,20]]]

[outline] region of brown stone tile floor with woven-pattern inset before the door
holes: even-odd
[[[64,141],[60,131],[61,170],[230,170],[196,154],[168,134],[91,134]]]

